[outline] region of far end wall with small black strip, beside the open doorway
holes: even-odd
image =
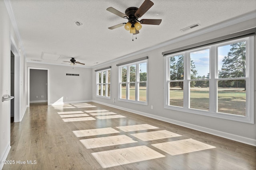
[[[92,99],[92,69],[27,63],[28,67],[49,69],[49,104],[83,102]],[[67,76],[79,74],[79,76]]]

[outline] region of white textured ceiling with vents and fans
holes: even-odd
[[[137,39],[134,36],[132,41],[132,34],[124,27],[108,29],[127,20],[106,8],[113,7],[124,13],[126,8],[140,7],[144,0],[9,1],[28,62],[61,64],[74,57],[85,63],[85,67],[94,67],[256,10],[255,0],[152,0],[154,5],[140,19],[162,19],[162,23],[142,25]],[[83,25],[78,27],[75,21]],[[180,31],[195,23],[200,26]],[[54,61],[42,58],[42,53],[61,57]]]

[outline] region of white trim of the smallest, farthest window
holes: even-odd
[[[108,70],[110,70],[110,83],[107,83],[107,81],[108,81],[108,76],[107,76]],[[103,83],[103,72],[104,72],[104,71],[106,72],[106,80],[105,80],[106,83]],[[99,72],[100,72],[101,75],[102,75],[102,76],[101,76],[101,83],[98,82],[98,75],[99,75],[98,73],[99,73]],[[102,85],[102,84],[106,84],[106,90],[105,90],[105,95],[106,95],[106,96],[103,96],[103,90],[101,90],[101,95],[98,94],[98,91],[99,91],[98,85],[99,85],[99,84],[101,84],[101,85]],[[107,93],[108,93],[107,84],[110,84],[110,94],[109,94],[110,97],[107,96]],[[102,89],[102,87],[101,87],[101,89]],[[100,71],[97,71],[97,72],[96,72],[96,97],[98,97],[98,98],[105,98],[105,99],[111,99],[111,68],[108,68],[108,69],[105,69],[105,70],[100,70]]]

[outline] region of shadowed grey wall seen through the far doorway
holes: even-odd
[[[47,78],[47,70],[30,69],[30,103],[47,101]]]

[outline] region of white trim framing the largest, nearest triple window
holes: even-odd
[[[230,44],[230,43],[235,43],[238,41],[246,41],[246,44],[249,43],[249,45],[246,45],[246,51],[248,51],[249,53],[246,53],[246,65],[249,66],[246,67],[246,77],[244,78],[246,80],[246,116],[241,116],[241,115],[233,115],[233,114],[228,114],[228,113],[219,113],[217,112],[216,108],[216,104],[217,104],[217,81],[221,80],[220,78],[218,78],[218,60],[217,60],[217,47],[219,47],[220,45],[225,45],[225,44]],[[200,109],[192,109],[192,108],[188,108],[188,103],[186,101],[188,100],[184,100],[184,107],[178,107],[178,106],[169,106],[168,105],[168,101],[169,101],[169,57],[172,56],[177,56],[177,55],[181,55],[184,54],[183,53],[175,53],[172,55],[166,55],[165,59],[164,59],[164,79],[165,79],[165,83],[164,83],[164,108],[165,109],[172,109],[172,110],[176,110],[176,111],[182,111],[182,112],[187,112],[187,113],[193,113],[193,114],[198,114],[198,115],[204,115],[204,116],[210,116],[210,117],[217,117],[217,118],[221,118],[221,119],[228,119],[228,120],[232,120],[232,121],[240,121],[240,122],[244,122],[244,123],[251,123],[254,124],[254,36],[250,36],[250,37],[246,37],[246,38],[241,38],[241,39],[236,39],[236,40],[232,40],[232,41],[228,41],[228,42],[224,42],[224,43],[218,43],[218,44],[214,44],[214,45],[210,45],[208,47],[203,47],[203,48],[198,48],[198,49],[194,49],[194,50],[188,50],[186,52],[192,52],[192,51],[198,51],[200,49],[206,49],[206,48],[211,48],[212,46],[215,46],[215,50],[210,50],[210,56],[214,56],[214,57],[210,57],[210,72],[211,72],[211,77],[210,77],[210,94],[209,94],[209,111],[204,111],[204,110],[200,110]],[[184,56],[184,72],[190,73],[189,70],[189,64],[188,61],[185,62],[185,56]],[[212,73],[214,73],[212,75]],[[212,76],[214,76],[214,79],[212,79]],[[189,93],[188,93],[188,83],[186,83],[185,81],[188,80],[184,80],[184,98],[189,98]],[[186,88],[186,89],[185,89]],[[185,108],[186,107],[186,108]]]

